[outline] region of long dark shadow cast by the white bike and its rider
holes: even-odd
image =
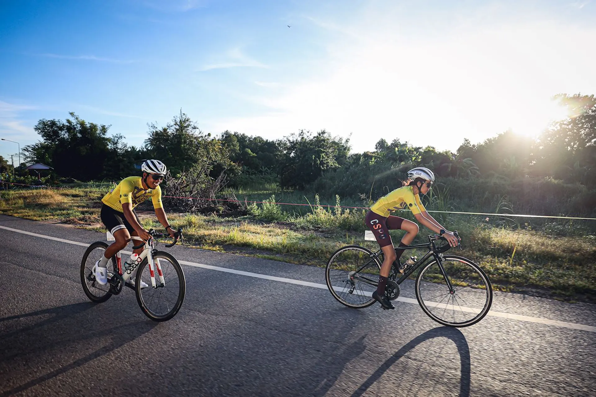
[[[39,321],[13,332],[0,334],[3,340],[3,345],[8,346],[7,349],[0,355],[0,385],[10,385],[11,383],[20,383],[28,377],[35,377],[20,386],[14,387],[10,390],[2,390],[4,387],[0,386],[0,397],[13,395],[14,393],[22,392],[30,387],[39,385],[47,380],[64,374],[74,368],[80,367],[96,358],[99,358],[111,351],[114,351],[126,343],[132,342],[139,336],[149,332],[157,325],[153,321],[136,321],[135,323],[123,323],[122,325],[113,326],[113,322],[106,318],[102,323],[96,322],[97,327],[89,327],[93,323],[94,314],[88,311],[90,308],[97,307],[91,302],[82,302],[72,305],[64,305],[61,307],[49,308],[46,310],[39,310],[27,314],[14,315],[10,317],[0,318],[0,325],[4,321],[19,320],[26,317],[33,317],[36,315],[54,314],[51,318]],[[110,342],[101,343],[103,347],[95,349],[89,354],[72,360],[70,355],[56,355],[55,352],[64,349],[67,351],[73,346],[82,351],[88,350],[88,346],[93,346],[95,339],[101,340],[105,336],[110,336]],[[48,358],[51,357],[51,360]],[[48,373],[39,376],[39,373],[21,371],[17,372],[13,365],[15,362],[27,362],[31,368],[44,368],[41,372],[47,371],[49,365],[56,367]],[[35,362],[39,365],[35,365]],[[51,364],[48,364],[48,361]],[[11,368],[13,373],[11,374]],[[49,368],[51,369],[51,368]],[[13,380],[13,382],[8,382]],[[14,382],[16,380],[16,382]]]

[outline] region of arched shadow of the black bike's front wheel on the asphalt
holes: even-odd
[[[414,349],[420,343],[426,340],[433,339],[435,337],[447,337],[451,339],[455,346],[457,346],[458,353],[460,354],[461,364],[461,380],[460,380],[460,397],[467,397],[470,395],[470,347],[468,346],[465,336],[460,330],[451,327],[437,327],[429,330],[420,336],[415,337],[399,351],[397,351],[392,357],[385,361],[374,373],[365,380],[364,383],[358,389],[352,393],[352,397],[362,396],[369,387],[371,387],[383,374],[391,368],[396,361],[406,355],[409,351]]]

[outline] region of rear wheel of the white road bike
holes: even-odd
[[[95,281],[95,274],[93,273],[95,262],[104,256],[106,248],[108,248],[108,244],[103,241],[92,243],[85,251],[85,254],[83,254],[83,260],[80,262],[80,282],[83,285],[83,291],[85,291],[85,295],[87,295],[91,301],[97,303],[107,301],[112,295],[109,292],[110,283],[101,285]],[[111,261],[108,262],[108,279],[113,276],[115,270],[116,260],[111,258]]]

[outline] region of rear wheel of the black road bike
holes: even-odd
[[[338,249],[325,268],[327,287],[342,305],[364,308],[374,304],[373,292],[377,289],[381,262],[373,252],[348,245]]]

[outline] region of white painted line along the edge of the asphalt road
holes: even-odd
[[[89,246],[89,244],[87,244],[87,243],[79,243],[79,242],[72,241],[72,240],[58,239],[57,237],[39,235],[38,233],[26,232],[24,230],[13,229],[11,227],[6,227],[6,226],[0,226],[0,229],[10,230],[10,232],[23,233],[24,235],[41,237],[43,239],[54,240],[54,241],[59,241],[59,242],[63,242],[63,243],[75,244],[75,245],[80,245],[80,246],[84,246],[84,247]],[[122,251],[122,252],[124,254],[129,254],[129,255],[132,254],[131,251]],[[302,285],[302,286],[306,286],[306,287],[327,289],[327,285],[325,285],[325,284],[311,283],[311,282],[306,282],[306,281],[302,281],[302,280],[287,279],[285,277],[268,276],[267,274],[252,273],[250,271],[235,270],[235,269],[230,269],[230,268],[226,268],[226,267],[206,265],[206,264],[202,264],[202,263],[195,263],[195,262],[188,262],[188,261],[178,261],[178,262],[180,262],[183,265],[200,267],[200,268],[209,269],[209,270],[223,271],[225,273],[239,274],[240,276],[256,277],[257,279],[265,279],[265,280],[272,280],[272,281],[288,283],[288,284]],[[367,293],[367,295],[371,295],[371,294]],[[402,298],[401,296],[396,300],[400,301],[400,302],[406,302],[406,303],[411,303],[411,304],[416,304],[416,305],[418,304],[418,301],[416,299]],[[466,308],[463,308],[463,309],[464,309],[464,311],[468,311],[468,310],[465,310]],[[472,309],[470,309],[470,310],[472,310]],[[548,318],[530,317],[528,315],[511,314],[511,313],[492,311],[492,310],[489,311],[487,315],[490,315],[492,317],[507,318],[510,320],[528,321],[530,323],[545,324],[548,326],[556,326],[556,327],[563,327],[563,328],[582,330],[582,331],[588,331],[588,332],[596,332],[596,327],[594,327],[594,326],[586,326],[584,324],[568,323],[567,321],[549,320]]]

